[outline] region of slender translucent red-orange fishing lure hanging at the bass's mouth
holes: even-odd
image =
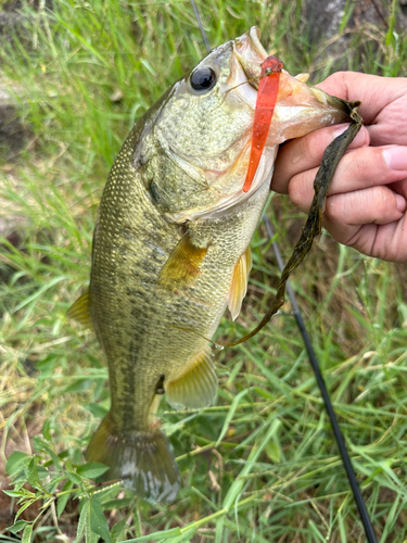
[[[282,66],[282,62],[276,56],[267,56],[262,64],[262,77],[258,81],[256,110],[254,112],[252,149],[243,192],[247,192],[252,186],[266,143],[279,91]]]

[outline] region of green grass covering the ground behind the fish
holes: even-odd
[[[313,81],[338,66],[406,73],[397,12],[386,26],[346,34],[348,2],[341,31],[351,41],[335,36],[326,50],[309,43],[301,0],[199,5],[213,46],[256,24],[265,47]],[[25,542],[77,531],[90,542],[365,541],[289,303],[262,334],[218,355],[216,405],[175,413],[162,402],[182,477],[175,504],[153,507],[88,479],[101,469],[84,467],[82,451],[109,408],[106,368],[66,310],[87,285],[98,201],[126,134],[205,50],[187,1],[54,0],[53,12],[24,11],[24,28],[0,47],[1,85],[14,89],[28,127],[0,169],[0,219],[20,237],[17,248],[3,240],[0,255],[0,471],[9,458],[9,496],[31,504],[20,519],[36,519],[14,532],[24,528]],[[304,217],[283,197],[268,213],[287,260]],[[243,314],[224,318],[218,338],[254,326],[277,286],[262,226],[253,258]],[[292,280],[381,543],[407,541],[404,279],[405,266],[322,235]],[[0,538],[21,535],[4,526]]]

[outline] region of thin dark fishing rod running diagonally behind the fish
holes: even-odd
[[[202,34],[203,41],[205,43],[206,50],[209,52],[211,51],[209,41],[207,39],[205,29],[203,27],[201,16],[200,16],[200,13],[198,11],[198,7],[195,4],[195,0],[191,0],[191,4],[193,8],[195,17],[196,17],[198,25],[199,25],[201,34]],[[271,176],[270,176],[270,178],[271,178]],[[275,233],[272,231],[271,223],[266,214],[264,214],[263,220],[264,220],[265,226],[266,226],[268,239],[271,241],[274,239]],[[283,263],[283,260],[281,257],[280,248],[279,248],[276,240],[274,240],[271,244],[272,244],[272,250],[274,250],[274,253],[276,256],[277,265],[280,269],[280,273],[282,273],[284,269],[284,263]],[[370,517],[369,517],[368,510],[366,508],[366,504],[365,504],[364,497],[361,495],[359,484],[358,484],[357,479],[356,479],[355,470],[353,468],[352,460],[351,460],[351,457],[349,457],[347,449],[346,449],[345,440],[342,435],[342,432],[341,432],[341,429],[340,429],[340,426],[338,422],[338,418],[336,418],[336,415],[335,415],[335,412],[334,412],[334,408],[332,406],[332,402],[331,402],[331,399],[330,399],[330,395],[328,392],[328,389],[326,387],[321,370],[319,368],[318,358],[315,354],[311,340],[310,340],[309,334],[307,332],[307,329],[305,327],[304,319],[302,317],[300,306],[297,304],[296,296],[295,296],[294,290],[292,289],[292,287],[290,285],[290,281],[287,281],[287,292],[289,294],[289,299],[290,299],[291,306],[293,310],[292,314],[295,318],[295,323],[296,323],[298,330],[300,330],[300,333],[303,338],[304,345],[305,345],[305,349],[306,349],[307,354],[308,354],[309,363],[313,367],[314,375],[315,375],[315,378],[317,380],[317,383],[318,383],[318,387],[319,387],[319,390],[320,390],[320,393],[321,393],[321,396],[322,396],[322,400],[323,400],[323,403],[325,403],[325,406],[326,406],[326,409],[327,409],[327,413],[329,416],[329,420],[331,422],[332,432],[333,432],[333,435],[335,438],[335,442],[336,442],[336,445],[338,445],[338,449],[339,449],[339,452],[340,452],[340,455],[342,458],[342,463],[343,463],[347,479],[348,479],[349,484],[351,484],[351,489],[352,489],[352,492],[353,492],[353,495],[354,495],[354,498],[356,502],[357,509],[359,512],[361,523],[364,525],[367,541],[368,541],[368,543],[377,543],[376,533],[374,533],[373,527],[371,525]]]

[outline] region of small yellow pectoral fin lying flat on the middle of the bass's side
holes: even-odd
[[[175,290],[193,283],[201,273],[206,252],[207,247],[195,247],[187,231],[161,270],[158,285],[167,290]]]

